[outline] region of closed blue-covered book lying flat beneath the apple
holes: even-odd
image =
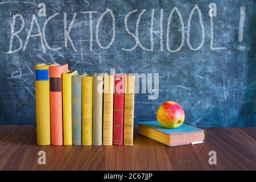
[[[158,121],[139,122],[138,124],[139,134],[169,147],[204,143],[207,137],[205,130],[184,123],[176,129],[167,129]]]

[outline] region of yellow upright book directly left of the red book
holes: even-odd
[[[113,144],[114,76],[104,75],[103,144]]]

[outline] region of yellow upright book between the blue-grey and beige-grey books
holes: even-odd
[[[93,76],[82,77],[82,145],[92,145]]]

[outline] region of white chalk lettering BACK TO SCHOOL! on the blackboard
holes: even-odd
[[[39,16],[44,16],[46,15],[46,7],[43,5],[40,5],[40,9],[38,14],[40,14]],[[133,51],[136,48],[141,48],[144,51],[149,51],[149,52],[154,52],[154,51],[164,51],[164,45],[163,45],[163,34],[166,34],[166,49],[169,52],[179,52],[181,51],[181,49],[184,46],[184,40],[185,40],[185,24],[184,24],[184,20],[183,20],[183,16],[182,16],[182,12],[180,12],[179,7],[174,7],[167,19],[167,28],[166,28],[166,32],[163,32],[163,15],[164,15],[164,11],[163,9],[160,9],[160,17],[159,17],[159,31],[156,31],[154,28],[154,22],[158,21],[158,19],[156,19],[155,17],[155,9],[151,9],[150,10],[150,19],[148,19],[148,21],[150,21],[150,37],[147,39],[142,39],[144,42],[142,42],[142,40],[139,39],[139,35],[141,34],[141,32],[139,32],[139,26],[141,23],[141,18],[144,15],[144,13],[146,13],[146,9],[143,9],[141,12],[139,12],[137,9],[136,10],[132,10],[130,12],[128,12],[125,15],[125,18],[123,20],[124,23],[124,27],[126,32],[123,32],[124,34],[128,34],[130,35],[130,39],[131,41],[134,41],[134,46],[133,47],[125,47],[125,45],[121,45],[121,49],[123,51]],[[71,44],[72,47],[72,51],[77,52],[77,48],[73,42],[73,38],[71,36],[71,31],[72,31],[72,27],[73,24],[75,24],[75,20],[77,18],[78,15],[84,15],[84,16],[89,16],[89,37],[90,37],[90,41],[89,41],[89,48],[90,51],[93,51],[93,14],[97,14],[97,11],[82,11],[80,13],[73,13],[72,19],[70,19],[70,17],[67,17],[67,13],[63,13],[63,23],[64,23],[64,28],[63,28],[63,34],[64,34],[64,49],[68,49],[68,44]],[[172,21],[174,19],[173,15],[174,13],[176,13],[178,15],[179,18],[179,22],[180,22],[180,26],[181,26],[181,42],[178,43],[179,47],[175,48],[171,48],[174,47],[174,45],[172,45],[170,43],[170,28],[172,26]],[[127,26],[127,22],[130,18],[130,15],[132,14],[137,14],[137,20],[136,22],[134,22],[135,25],[135,33],[131,32],[131,30],[129,29],[129,27]],[[100,41],[100,31],[99,28],[101,26],[101,22],[102,19],[105,18],[106,15],[110,15],[111,16],[111,20],[112,20],[112,28],[110,29],[110,35],[111,35],[111,40],[104,46],[102,45],[101,41]],[[203,17],[200,7],[198,5],[195,5],[193,7],[193,9],[191,10],[191,13],[189,14],[189,18],[187,20],[187,46],[189,47],[189,49],[191,49],[192,51],[199,51],[205,43],[205,26],[204,26],[204,18],[209,18],[210,19],[210,45],[209,48],[211,50],[221,50],[221,49],[227,49],[227,47],[218,47],[218,46],[214,46],[214,19],[213,17],[217,16],[217,5],[215,3],[210,3],[209,4],[209,13],[208,13],[209,17]],[[20,50],[22,50],[23,52],[26,51],[27,45],[30,41],[31,37],[38,37],[40,39],[40,43],[43,49],[43,52],[46,53],[46,51],[49,49],[51,51],[58,51],[60,49],[63,49],[63,45],[59,45],[57,47],[51,47],[49,46],[48,42],[47,42],[47,38],[46,38],[46,28],[47,28],[47,23],[51,20],[54,21],[56,16],[61,16],[60,13],[55,13],[51,16],[49,16],[49,18],[46,19],[46,21],[43,24],[43,28],[40,27],[38,18],[36,17],[35,14],[32,14],[32,19],[31,19],[31,23],[30,23],[30,28],[27,32],[27,36],[26,36],[26,40],[23,44],[23,40],[20,37],[20,32],[23,31],[24,29],[24,24],[25,24],[25,20],[22,14],[15,14],[13,15],[12,21],[11,21],[11,36],[10,36],[10,46],[9,46],[9,51],[7,51],[7,54],[11,54],[11,53],[15,53],[18,52]],[[201,28],[201,32],[199,32],[199,34],[201,34],[201,42],[200,44],[196,47],[192,47],[192,43],[191,43],[191,39],[190,39],[190,35],[191,35],[191,20],[198,18],[199,19],[199,26]],[[17,28],[18,30],[15,30],[15,24],[17,21],[21,21],[21,23],[19,23],[19,28]],[[68,24],[68,22],[70,22]],[[243,26],[244,26],[244,22],[245,22],[245,7],[241,6],[240,7],[240,22],[238,23],[239,26],[239,32],[238,32],[238,40],[240,43],[243,42]],[[36,26],[36,27],[34,27]],[[34,30],[34,28],[36,28],[35,30],[37,31],[37,34],[32,34],[32,31]],[[160,48],[156,49],[154,48],[154,32],[159,32],[159,44],[160,44]],[[106,9],[101,15],[100,18],[97,19],[97,23],[96,23],[96,30],[95,30],[95,37],[96,37],[96,43],[98,45],[98,47],[100,47],[101,49],[109,49],[114,41],[115,41],[115,34],[116,34],[116,27],[115,27],[115,14],[113,13],[112,10],[110,9]],[[75,36],[75,35],[74,35]],[[81,35],[79,35],[81,36]],[[217,36],[217,35],[215,35]],[[19,45],[15,45],[14,46],[14,39],[18,39],[19,40]],[[35,41],[35,40],[33,40]],[[38,40],[36,40],[38,41]],[[149,41],[150,42],[150,47],[146,47],[144,46],[144,43],[146,43],[145,41]],[[171,45],[171,46],[170,46]],[[15,47],[15,48],[14,48]],[[244,51],[245,47],[242,45],[237,46],[237,49],[240,51]]]

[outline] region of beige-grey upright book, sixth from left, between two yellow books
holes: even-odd
[[[103,77],[93,77],[93,145],[102,146]]]

